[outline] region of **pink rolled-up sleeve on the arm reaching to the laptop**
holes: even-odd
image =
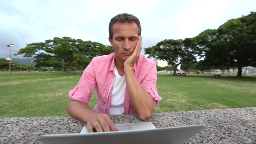
[[[83,71],[78,84],[69,91],[69,98],[76,101],[81,101],[88,105],[91,95],[96,88],[95,72],[93,66],[93,60]]]

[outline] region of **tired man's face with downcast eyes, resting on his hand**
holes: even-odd
[[[113,38],[109,37],[117,61],[124,62],[134,51],[139,37],[139,27],[135,22],[117,22],[112,27]]]

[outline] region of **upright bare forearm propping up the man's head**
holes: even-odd
[[[156,107],[156,103],[149,93],[141,87],[139,81],[133,74],[133,68],[124,67],[124,71],[128,93],[133,106],[138,112],[139,118],[141,120],[147,120],[151,117],[152,112]]]

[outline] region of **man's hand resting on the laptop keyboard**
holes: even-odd
[[[97,112],[88,116],[86,125],[88,133],[92,133],[94,130],[96,132],[118,131],[109,115]]]

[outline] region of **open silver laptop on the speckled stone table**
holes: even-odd
[[[115,124],[119,131],[42,135],[43,144],[181,144],[195,136],[205,125],[155,128],[150,122]]]

